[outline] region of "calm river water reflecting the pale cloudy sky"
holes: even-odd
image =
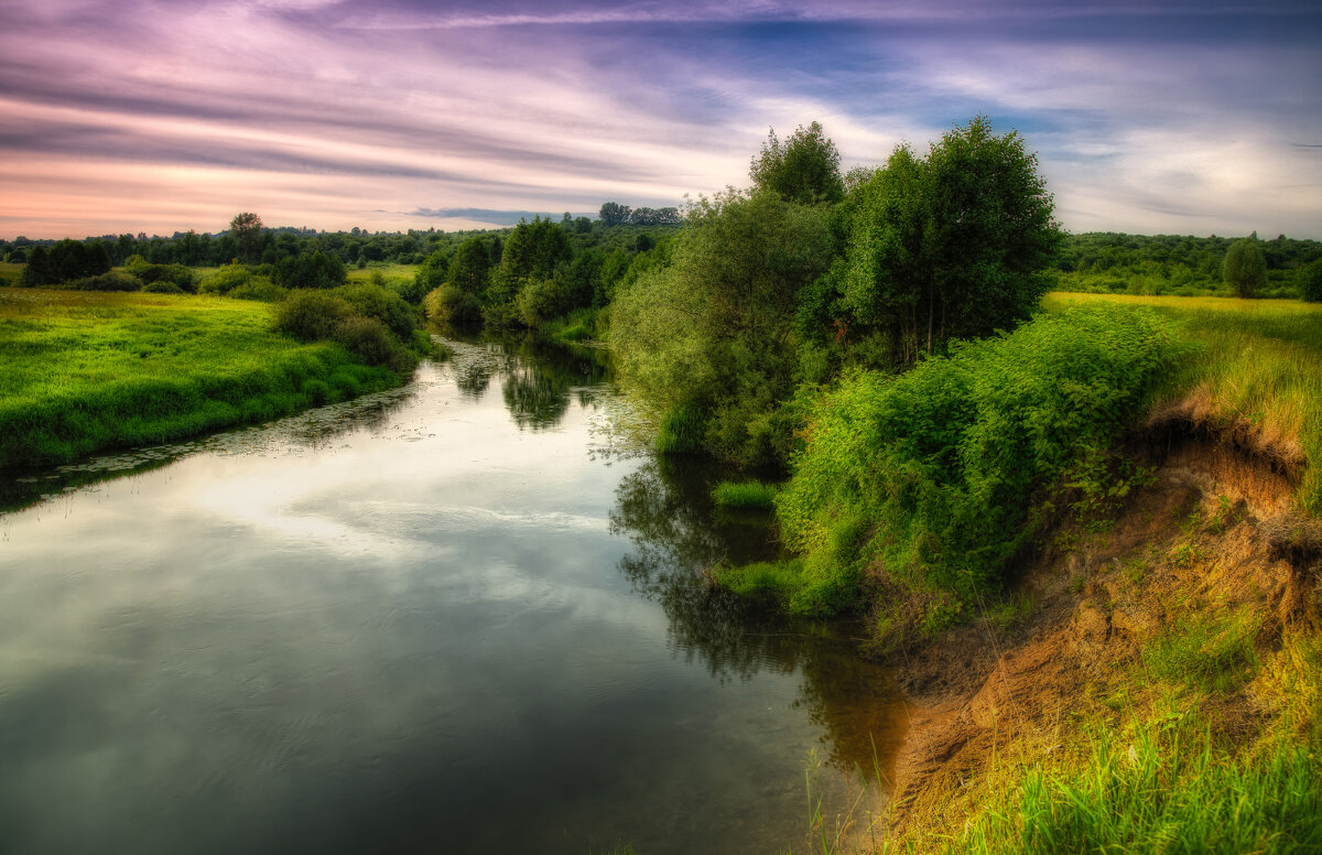
[[[765,521],[613,452],[607,381],[456,344],[4,484],[0,852],[806,851],[813,759],[830,823],[904,708],[838,633],[706,588]]]

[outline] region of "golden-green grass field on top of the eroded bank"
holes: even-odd
[[[1166,379],[1165,396],[1196,395],[1215,419],[1247,422],[1265,444],[1297,448],[1306,461],[1298,502],[1322,514],[1322,304],[1052,293],[1044,307],[1099,303],[1149,307],[1177,321],[1199,352]]]

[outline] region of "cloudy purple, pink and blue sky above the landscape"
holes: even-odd
[[[1322,238],[1314,0],[0,0],[0,237],[678,205],[977,114],[1071,231]]]

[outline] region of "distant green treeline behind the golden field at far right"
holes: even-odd
[[[1228,292],[1224,262],[1235,241],[1113,231],[1066,235],[1056,254],[1058,288],[1185,296]],[[1309,266],[1322,259],[1322,242],[1278,235],[1256,244],[1266,264],[1266,281],[1257,296],[1301,296]]]

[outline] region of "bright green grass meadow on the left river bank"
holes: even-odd
[[[262,422],[397,385],[243,300],[0,289],[0,468]]]

